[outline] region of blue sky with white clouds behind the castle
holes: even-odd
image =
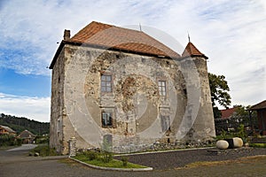
[[[208,72],[228,81],[231,106],[266,99],[264,0],[0,0],[0,113],[49,122],[47,66],[64,29],[74,35],[93,20],[153,27],[184,47],[189,33]]]

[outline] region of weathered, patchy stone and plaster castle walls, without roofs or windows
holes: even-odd
[[[192,66],[185,66],[186,59],[154,58],[68,44],[62,52],[53,68],[51,96],[51,144],[62,153],[67,153],[67,142],[72,137],[76,138],[76,147],[82,149],[99,147],[102,135],[109,134],[113,135],[114,149],[126,150],[129,144],[202,141],[215,136],[204,58],[192,61],[200,76],[195,87],[193,81],[187,80],[197,79],[197,74],[188,77]],[[112,75],[111,93],[100,91],[103,73]],[[165,97],[158,92],[161,80],[167,83]],[[200,96],[192,96],[195,100],[190,101],[188,94],[195,88],[200,90]],[[199,104],[199,112],[190,111],[193,104],[194,107]],[[103,111],[113,112],[113,127],[102,127]],[[196,115],[195,121],[190,120],[192,114]],[[169,116],[169,131],[162,132],[160,115]],[[190,134],[183,136],[186,131]]]

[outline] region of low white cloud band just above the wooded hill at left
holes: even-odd
[[[49,122],[50,97],[12,96],[0,93],[0,113]]]

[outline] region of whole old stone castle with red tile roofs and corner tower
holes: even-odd
[[[91,22],[65,30],[51,61],[50,145],[135,151],[215,136],[207,57],[179,55],[142,31]]]

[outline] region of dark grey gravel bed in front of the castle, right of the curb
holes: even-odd
[[[217,154],[218,153],[218,154]],[[198,149],[130,155],[129,162],[151,166],[153,169],[184,167],[199,161],[221,161],[248,156],[266,155],[266,149],[240,148],[232,150]]]

